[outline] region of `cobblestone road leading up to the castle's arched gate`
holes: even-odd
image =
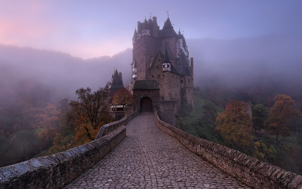
[[[107,156],[63,188],[249,188],[160,131],[140,113]]]

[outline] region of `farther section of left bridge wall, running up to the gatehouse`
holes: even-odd
[[[137,116],[139,112],[140,110],[137,110],[128,116],[124,116],[122,119],[118,121],[103,125],[99,130],[98,134],[96,135],[95,140],[107,135],[108,133],[114,131],[115,129],[119,128],[122,125],[126,125],[132,118]]]

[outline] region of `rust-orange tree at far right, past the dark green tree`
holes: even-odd
[[[276,95],[274,101],[275,104],[271,107],[266,130],[271,134],[275,134],[278,141],[279,135],[290,135],[288,122],[290,118],[301,117],[301,113],[294,109],[295,101],[288,95]]]

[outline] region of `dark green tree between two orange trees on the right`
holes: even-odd
[[[268,119],[269,110],[263,104],[252,104],[252,119],[253,119],[253,128],[255,131],[257,129],[263,129],[264,123]]]

